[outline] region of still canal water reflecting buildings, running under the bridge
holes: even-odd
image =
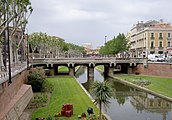
[[[89,92],[94,81],[103,81],[103,75],[94,70],[94,80],[87,80],[87,69],[81,67],[76,78]],[[107,78],[110,79],[110,78]],[[111,79],[112,80],[112,79]],[[114,96],[110,99],[109,108],[104,109],[112,120],[172,120],[172,103],[157,96],[138,91],[112,80]]]

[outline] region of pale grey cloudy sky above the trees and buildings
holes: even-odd
[[[137,21],[172,22],[172,0],[31,0],[33,13],[28,31],[46,32],[66,42],[93,47],[119,33],[127,33]]]

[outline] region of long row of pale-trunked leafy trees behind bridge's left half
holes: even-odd
[[[49,36],[42,32],[32,33],[28,42],[32,53],[67,53],[71,55],[84,53],[84,47],[67,43],[60,37]]]

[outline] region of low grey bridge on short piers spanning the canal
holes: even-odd
[[[54,68],[54,74],[58,74],[59,66],[69,68],[69,75],[75,75],[75,67],[85,65],[88,68],[88,77],[94,77],[94,67],[104,65],[105,76],[112,76],[114,68],[120,67],[121,71],[131,73],[133,67],[137,64],[147,66],[147,58],[117,58],[117,57],[53,57],[53,55],[32,55],[29,59],[31,65],[46,65]]]

